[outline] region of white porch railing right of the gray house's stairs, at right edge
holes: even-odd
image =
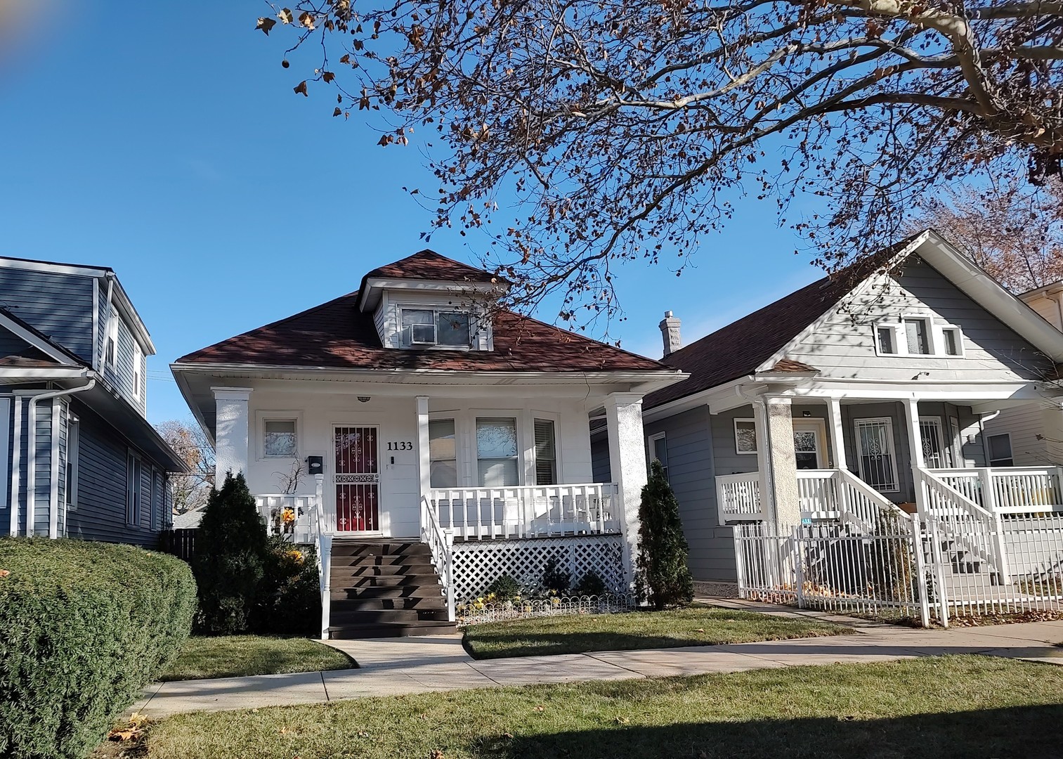
[[[928,470],[993,513],[1063,511],[1063,468],[1002,467]]]

